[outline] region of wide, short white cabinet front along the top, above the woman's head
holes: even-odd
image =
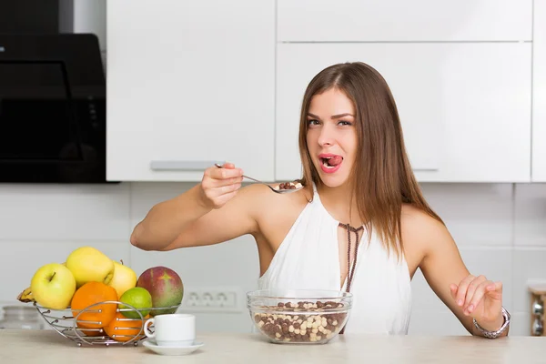
[[[278,42],[529,41],[531,24],[532,0],[278,0]]]

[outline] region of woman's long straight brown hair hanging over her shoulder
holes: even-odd
[[[401,237],[402,204],[410,204],[439,220],[422,196],[406,153],[399,114],[385,79],[373,67],[361,62],[343,63],[322,70],[308,85],[299,121],[299,154],[303,165],[302,184],[321,186],[319,173],[308,153],[308,109],[311,98],[337,88],[355,107],[358,150],[349,177],[352,196],[357,198],[359,217],[372,227],[387,248],[403,255]],[[311,197],[312,198],[312,197]],[[352,206],[352,201],[351,201]]]

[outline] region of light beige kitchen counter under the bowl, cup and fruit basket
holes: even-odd
[[[0,329],[0,363],[546,363],[545,337],[340,335],[324,345],[272,344],[258,334],[199,334],[204,346],[183,357],[143,347],[82,346],[52,330]]]

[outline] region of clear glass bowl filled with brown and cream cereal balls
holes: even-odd
[[[325,344],[349,319],[352,294],[337,290],[266,289],[247,294],[260,333],[275,343]]]

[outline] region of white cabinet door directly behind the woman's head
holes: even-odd
[[[278,45],[278,180],[300,176],[298,116],[326,66],[363,61],[387,80],[420,181],[529,181],[531,45]]]

